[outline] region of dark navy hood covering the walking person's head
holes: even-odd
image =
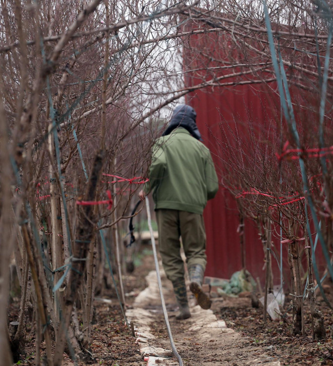
[[[175,108],[171,117],[171,121],[169,122],[167,129],[165,129],[162,136],[169,135],[177,127],[183,127],[197,140],[202,141],[201,134],[195,122],[196,117],[197,114],[192,107],[188,106],[187,104],[181,104]]]

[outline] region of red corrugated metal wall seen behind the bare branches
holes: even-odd
[[[200,25],[195,26],[197,28],[201,27]],[[250,42],[255,42],[255,40],[250,40]],[[211,60],[207,58],[207,55],[212,56]],[[215,60],[219,59],[219,61],[213,61],[214,58]],[[261,128],[267,129],[269,124],[276,126],[276,124],[282,123],[280,98],[276,84],[274,82],[269,84],[246,84],[251,78],[260,80],[260,75],[254,76],[251,73],[247,73],[244,77],[240,76],[241,69],[231,71],[228,68],[229,58],[234,60],[234,62],[238,60],[238,64],[246,64],[248,62],[248,59],[244,59],[242,51],[238,47],[233,47],[228,35],[192,35],[188,39],[188,46],[184,48],[185,85],[187,87],[199,85],[203,80],[213,80],[214,77],[221,75],[230,76],[225,81],[225,87],[215,86],[197,89],[186,97],[186,102],[197,112],[197,125],[204,143],[212,153],[219,179],[223,178],[224,169],[221,162],[223,156],[221,156],[222,149],[220,145],[233,143],[233,138],[228,141],[228,133],[233,134],[235,129],[238,129],[245,136],[249,128],[249,122],[251,122],[252,126],[255,126],[257,131],[260,131]],[[256,62],[260,63],[261,60],[258,58],[258,55],[253,55],[251,62],[255,64]],[[224,65],[227,65],[227,67],[220,68],[218,72],[207,71],[207,66],[211,70],[216,70],[215,67]],[[232,74],[237,71],[239,72],[238,78]],[[268,77],[269,79],[273,75],[266,72],[265,75],[262,74],[262,77]],[[245,83],[242,84],[240,81]],[[292,90],[291,92],[293,93]],[[298,99],[298,96],[297,91],[292,94],[292,97],[295,99]],[[296,118],[298,117],[296,116]],[[224,128],[225,131],[227,130],[227,134],[226,132],[221,132]],[[260,132],[258,132],[257,136],[259,134]],[[267,143],[272,144],[274,142],[274,138],[268,137],[268,139],[270,141]],[[278,150],[279,148],[277,148]],[[223,187],[220,187],[217,196],[208,202],[204,211],[204,220],[207,233],[206,252],[208,263],[206,276],[230,278],[234,272],[242,268],[240,236],[237,232],[239,216],[235,199]],[[275,229],[279,233],[279,228]],[[279,253],[278,258],[280,258],[279,239],[275,238],[273,240],[275,252]],[[284,245],[283,275],[285,282],[289,283],[288,246],[287,244]],[[263,283],[263,247],[259,240],[258,231],[250,220],[245,221],[245,251],[246,269],[254,278],[259,277]],[[316,257],[318,259],[321,258],[321,263],[323,263],[320,248],[316,251]],[[278,258],[272,256],[274,284],[280,284]]]

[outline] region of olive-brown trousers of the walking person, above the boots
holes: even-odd
[[[156,210],[158,247],[168,279],[184,278],[184,262],[180,254],[182,244],[187,266],[206,268],[206,232],[202,215],[185,211]]]

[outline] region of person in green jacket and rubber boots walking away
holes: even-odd
[[[208,199],[215,196],[218,181],[208,148],[201,143],[196,113],[186,104],[178,106],[162,137],[152,149],[149,182],[139,193],[143,200],[152,192],[158,226],[158,246],[168,279],[172,281],[179,313],[191,317],[180,254],[180,237],[186,256],[190,290],[203,309],[211,301],[202,290],[206,268],[206,233],[202,217]]]

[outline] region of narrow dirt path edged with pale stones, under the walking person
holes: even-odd
[[[176,321],[172,284],[163,271],[161,276],[174,342],[184,366],[280,366],[278,359],[264,354],[261,347],[251,345],[239,333],[227,328],[224,321],[217,320],[212,310],[191,306],[192,317]],[[127,310],[129,321],[135,324],[136,342],[148,366],[177,366],[164,323],[156,272],[151,271],[146,280],[148,287],[137,296],[134,307]],[[218,308],[217,301],[213,301],[212,308]]]

